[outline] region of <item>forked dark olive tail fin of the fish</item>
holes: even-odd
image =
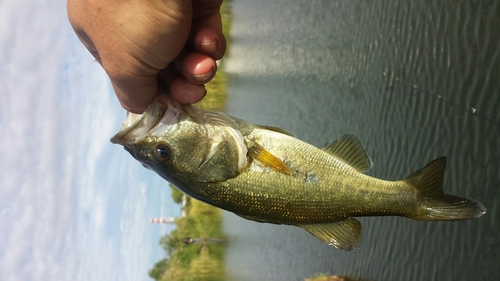
[[[416,220],[466,220],[480,217],[486,208],[478,201],[443,193],[446,157],[440,157],[404,181],[419,191]]]

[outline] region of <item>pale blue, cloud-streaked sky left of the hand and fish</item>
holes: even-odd
[[[64,0],[0,0],[0,280],[148,280],[180,213],[109,139],[125,119]]]

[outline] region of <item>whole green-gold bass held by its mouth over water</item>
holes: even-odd
[[[128,112],[111,142],[192,198],[248,220],[301,227],[346,251],[361,244],[355,217],[451,221],[486,213],[476,200],[443,192],[446,157],[403,180],[378,179],[365,174],[373,164],[355,135],[318,148],[168,96],[143,114]]]

